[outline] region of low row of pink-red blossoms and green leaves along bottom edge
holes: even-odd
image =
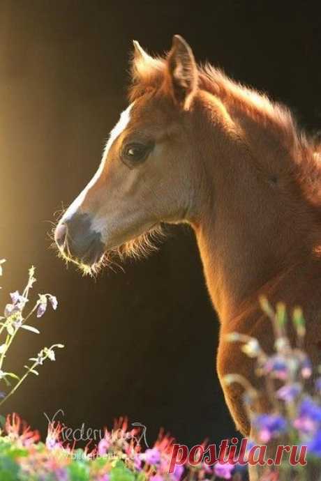
[[[8,415],[0,436],[0,479],[6,481],[212,481],[230,479],[233,465],[177,465],[170,473],[173,438],[161,434],[142,450],[140,429],[119,420],[94,448],[76,449],[49,425],[45,443],[19,416]],[[90,443],[89,443],[90,444]],[[234,478],[240,480],[240,478]]]

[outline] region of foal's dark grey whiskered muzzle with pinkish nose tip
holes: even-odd
[[[63,217],[54,231],[54,241],[65,257],[87,266],[98,263],[105,251],[101,234],[92,229],[87,213]]]

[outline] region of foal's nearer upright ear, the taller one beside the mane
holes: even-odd
[[[197,89],[197,65],[191,47],[179,35],[173,37],[167,70],[174,100],[187,109]]]

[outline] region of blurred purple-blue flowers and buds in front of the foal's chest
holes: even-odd
[[[296,448],[294,457],[303,452],[306,463],[286,456],[279,468],[271,475],[267,468],[264,479],[298,481],[310,480],[308,473],[313,466],[313,479],[321,479],[321,366],[313,366],[304,351],[306,323],[300,307],[291,316],[296,334],[292,346],[287,335],[289,316],[283,303],[272,307],[267,298],[260,299],[263,312],[271,320],[274,328],[274,353],[268,356],[257,339],[248,335],[231,333],[230,342],[240,342],[241,350],[255,360],[255,374],[264,380],[264,389],[258,392],[238,374],[225,376],[225,383],[241,383],[244,386],[244,405],[254,427],[252,445],[260,449],[262,445]],[[269,399],[269,413],[257,413],[257,400],[264,396]],[[285,454],[285,456],[284,456]],[[293,454],[293,449],[292,449]],[[294,464],[296,464],[294,468]]]

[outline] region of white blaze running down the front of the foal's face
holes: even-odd
[[[91,187],[93,187],[93,185],[95,185],[96,181],[98,181],[98,178],[100,177],[100,174],[103,172],[103,168],[105,166],[107,154],[108,154],[108,151],[110,150],[110,147],[112,146],[114,141],[117,139],[117,137],[119,137],[119,135],[121,135],[121,132],[123,132],[126,129],[128,123],[130,121],[130,110],[132,109],[132,107],[133,107],[133,103],[131,103],[129,105],[129,107],[127,107],[127,109],[124,110],[124,112],[121,112],[121,116],[120,116],[120,119],[119,119],[118,123],[114,126],[114,128],[110,132],[110,137],[107,140],[107,143],[106,143],[106,146],[105,146],[105,149],[104,149],[104,152],[103,152],[103,158],[100,162],[98,170],[96,171],[96,174],[91,179],[91,181],[86,185],[84,190],[82,190],[82,192],[80,192],[78,197],[76,197],[76,199],[73,201],[73,203],[70,204],[67,211],[64,213],[64,215],[61,219],[61,222],[65,222],[66,220],[69,220],[70,217],[73,217],[73,215],[77,212],[77,210],[82,205],[82,202],[84,201],[84,198],[86,197],[86,194],[89,191],[89,189]]]

